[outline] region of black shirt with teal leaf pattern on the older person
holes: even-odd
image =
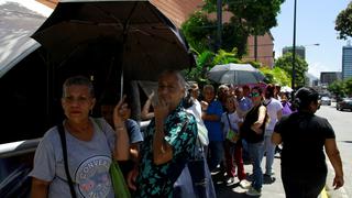
[[[161,165],[153,162],[154,133],[155,120],[153,119],[141,146],[136,197],[172,197],[176,180],[175,172],[177,172],[176,177],[178,175],[177,164],[195,157],[197,124],[194,116],[187,113],[182,105],[168,114],[164,123],[164,141],[173,147],[173,158]]]

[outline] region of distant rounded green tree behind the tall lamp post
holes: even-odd
[[[308,72],[308,64],[305,59],[296,56],[295,61],[296,85],[295,87],[302,87],[306,85],[306,73]],[[275,67],[283,68],[289,76],[293,76],[293,54],[286,53],[275,62]]]

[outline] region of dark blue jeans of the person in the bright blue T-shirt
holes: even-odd
[[[207,158],[210,172],[217,168],[223,158],[223,141],[210,141],[207,147]]]

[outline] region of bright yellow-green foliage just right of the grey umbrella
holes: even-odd
[[[264,74],[267,82],[290,86],[290,76],[283,68],[274,67],[271,69],[268,67],[261,67],[260,70]]]

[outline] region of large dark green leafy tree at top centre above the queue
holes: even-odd
[[[227,0],[223,10],[232,13],[230,22],[223,23],[221,48],[232,52],[237,50],[241,58],[246,54],[246,40],[249,35],[264,35],[271,28],[277,25],[276,15],[284,0]],[[217,0],[205,0],[201,11],[193,14],[182,25],[182,30],[190,45],[198,52],[204,46],[213,50],[217,36],[217,21],[209,20],[209,13],[217,11]],[[211,40],[211,41],[209,41]]]

